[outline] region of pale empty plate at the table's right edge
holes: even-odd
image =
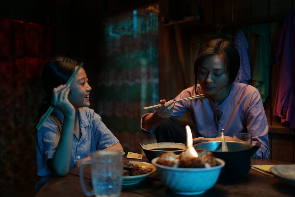
[[[277,165],[271,167],[271,173],[285,183],[295,186],[295,165]]]

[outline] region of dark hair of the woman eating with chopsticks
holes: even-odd
[[[225,72],[229,78],[229,84],[233,83],[240,69],[240,55],[235,45],[227,40],[215,38],[209,40],[201,46],[196,61],[194,63],[195,71],[195,92],[197,94],[198,69],[204,58],[207,56],[219,55],[223,59],[223,64],[226,67]]]

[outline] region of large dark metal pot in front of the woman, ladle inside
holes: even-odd
[[[259,149],[260,143],[255,146],[243,142],[227,141],[228,152],[222,152],[221,141],[208,141],[194,144],[196,149],[205,149],[215,157],[225,161],[219,178],[237,178],[248,174],[251,168],[251,157]]]

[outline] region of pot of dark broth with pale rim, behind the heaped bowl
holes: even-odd
[[[164,152],[173,152],[174,154],[180,154],[181,152],[185,151],[186,146],[185,144],[181,143],[174,143],[174,142],[160,142],[160,143],[153,143],[153,144],[142,144],[139,143],[140,147],[142,148],[145,156],[151,162],[152,159],[159,157]],[[180,150],[155,150],[155,149],[165,149],[165,148],[174,148]]]

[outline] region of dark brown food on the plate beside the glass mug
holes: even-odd
[[[143,175],[151,172],[153,168],[142,168],[137,164],[130,163],[129,161],[123,160],[123,176],[136,176]]]

